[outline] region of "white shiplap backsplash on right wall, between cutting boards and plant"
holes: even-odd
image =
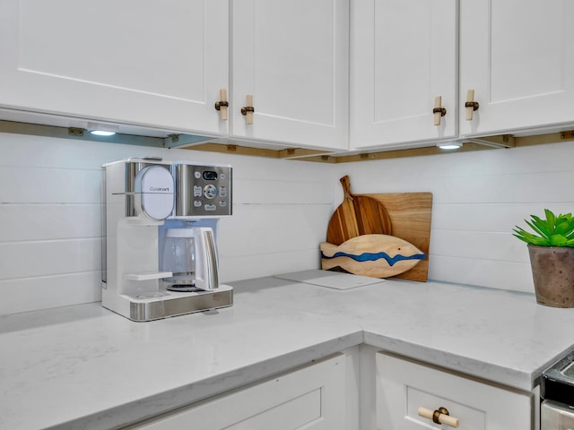
[[[433,194],[429,278],[534,293],[526,244],[511,236],[544,208],[574,212],[574,144],[337,165],[353,193]],[[342,193],[335,189],[335,202]]]

